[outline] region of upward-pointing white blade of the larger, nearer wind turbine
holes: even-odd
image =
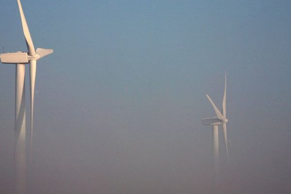
[[[33,46],[33,42],[32,42],[32,37],[30,35],[27,23],[26,23],[26,19],[22,10],[22,6],[20,3],[20,0],[17,0],[18,3],[18,7],[19,7],[19,12],[20,12],[20,17],[21,17],[21,23],[22,23],[22,29],[23,29],[23,33],[25,36],[25,40],[26,40],[26,45],[27,45],[27,49],[28,49],[28,53],[30,56],[34,56],[35,55],[35,50],[34,50],[34,46]]]

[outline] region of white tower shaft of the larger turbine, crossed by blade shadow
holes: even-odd
[[[16,64],[15,87],[15,194],[26,191],[26,157],[25,157],[25,65]]]

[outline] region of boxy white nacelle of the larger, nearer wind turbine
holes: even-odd
[[[0,60],[3,64],[28,64],[27,52],[1,53]]]

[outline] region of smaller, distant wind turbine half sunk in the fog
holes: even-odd
[[[225,91],[222,101],[222,113],[218,110],[212,99],[206,95],[208,100],[210,101],[217,117],[204,118],[202,119],[203,125],[211,125],[212,126],[212,141],[213,141],[213,154],[214,154],[214,168],[216,172],[218,172],[218,163],[219,163],[219,139],[218,139],[218,126],[222,125],[225,146],[226,146],[226,157],[228,160],[228,146],[227,146],[227,130],[226,123],[228,122],[226,118],[226,74],[225,74]]]

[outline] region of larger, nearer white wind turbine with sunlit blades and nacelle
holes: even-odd
[[[17,0],[22,29],[28,52],[1,53],[0,61],[3,64],[16,64],[16,87],[15,87],[15,171],[16,171],[16,194],[25,190],[25,64],[30,64],[30,89],[31,89],[31,141],[33,130],[33,101],[36,75],[36,61],[53,53],[52,49],[34,50],[32,37],[22,10],[20,0]],[[32,142],[31,142],[32,146]]]

